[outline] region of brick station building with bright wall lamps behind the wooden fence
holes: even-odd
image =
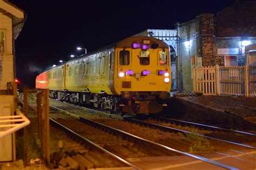
[[[178,91],[193,91],[193,67],[245,65],[245,46],[256,44],[256,2],[235,1],[217,12],[177,23]]]

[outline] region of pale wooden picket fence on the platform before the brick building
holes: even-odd
[[[193,78],[196,93],[256,96],[256,67],[194,68]]]

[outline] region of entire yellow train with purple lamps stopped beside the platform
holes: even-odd
[[[50,98],[122,114],[157,114],[171,90],[170,48],[134,36],[45,70],[36,88]]]

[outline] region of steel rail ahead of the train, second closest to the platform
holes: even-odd
[[[230,144],[234,144],[234,145],[240,145],[240,146],[249,147],[249,148],[254,148],[254,149],[256,148],[256,147],[250,146],[250,145],[235,143],[235,142],[233,142],[233,141],[228,141],[228,140],[213,138],[213,137],[210,137],[210,136],[204,136],[203,134],[193,133],[193,132],[190,132],[190,131],[185,131],[185,130],[181,130],[181,129],[171,128],[171,127],[163,126],[163,125],[159,125],[159,124],[154,124],[154,123],[147,123],[147,122],[143,122],[143,121],[138,121],[138,120],[136,120],[136,119],[125,118],[125,121],[132,122],[132,123],[137,123],[137,124],[143,124],[143,125],[148,126],[148,127],[158,128],[158,129],[165,130],[165,131],[181,132],[181,133],[184,133],[184,134],[190,133],[190,134],[195,134],[195,135],[200,136],[200,137],[205,137],[205,138],[209,138],[209,139],[219,140],[219,141],[223,141],[223,142],[230,143]]]

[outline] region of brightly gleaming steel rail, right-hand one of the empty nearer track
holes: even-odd
[[[67,111],[65,111],[65,112],[67,112]],[[124,118],[124,119],[126,119],[126,118]],[[211,159],[207,159],[207,158],[200,157],[198,155],[194,155],[194,154],[191,154],[191,153],[179,151],[179,150],[176,150],[176,149],[171,148],[169,146],[165,146],[165,145],[162,145],[162,144],[159,144],[159,143],[155,143],[154,141],[150,141],[150,140],[147,140],[147,139],[144,139],[144,138],[140,138],[140,137],[134,136],[133,134],[121,131],[119,129],[112,128],[112,127],[104,125],[102,123],[91,121],[89,119],[86,119],[86,118],[83,118],[83,117],[80,117],[80,116],[79,116],[79,121],[87,123],[87,124],[91,124],[91,125],[94,125],[94,126],[98,126],[99,129],[105,129],[105,130],[112,131],[113,133],[125,136],[126,138],[137,140],[140,143],[150,144],[153,147],[160,148],[160,150],[162,150],[162,151],[166,150],[166,151],[169,151],[169,153],[170,152],[171,153],[172,152],[176,152],[176,153],[181,154],[181,155],[187,155],[188,157],[192,157],[192,158],[195,158],[195,159],[198,159],[198,160],[201,160],[201,161],[205,161],[205,162],[208,162],[210,164],[213,164],[213,165],[216,165],[216,166],[219,166],[219,167],[223,167],[223,168],[226,168],[226,169],[237,169],[235,167],[232,167],[232,166],[229,166],[229,165],[225,165],[225,164],[222,164],[220,162],[217,162],[217,161],[214,161],[214,160],[211,160]]]

